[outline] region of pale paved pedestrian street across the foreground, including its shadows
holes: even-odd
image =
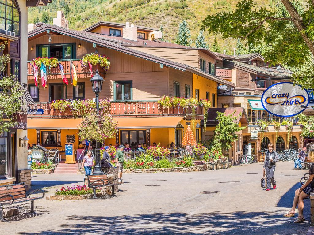
[[[263,163],[255,163],[215,171],[125,174],[125,184],[115,198],[37,200],[35,211],[40,215],[0,222],[0,233],[306,234],[309,199],[305,201],[305,223],[294,224],[296,217],[283,217],[306,171],[291,170],[292,162],[279,162],[275,171],[277,189],[262,191],[262,167]],[[33,188],[46,187],[46,194],[51,195],[61,185],[81,184],[82,180],[83,175],[35,175],[32,184]],[[202,191],[219,192],[200,194]]]

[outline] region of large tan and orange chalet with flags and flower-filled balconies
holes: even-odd
[[[90,71],[83,68],[84,55],[95,53],[110,59],[110,69],[98,68],[104,78],[100,99],[110,100],[109,110],[117,121],[116,138],[105,144],[128,142],[156,142],[168,146],[181,145],[187,125],[194,123],[194,134],[203,139],[200,122],[203,108],[196,110],[191,120],[191,110],[181,107],[167,109],[157,103],[165,96],[208,99],[217,107],[217,95],[234,84],[216,76],[216,63],[223,59],[203,48],[191,48],[161,41],[158,29],[133,24],[99,22],[84,31],[69,30],[63,13],[58,12],[54,25],[30,24],[28,32],[28,87],[31,97],[43,114],[28,116],[30,143],[46,148],[63,150],[67,135],[78,140],[81,118],[71,112],[58,112],[51,102],[60,99],[93,99]],[[47,85],[34,84],[31,60],[36,57],[56,57],[71,79],[71,63],[78,74],[78,85],[62,82],[59,68],[48,69]],[[93,68],[95,70],[96,68]]]

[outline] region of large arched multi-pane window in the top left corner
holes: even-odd
[[[15,0],[0,0],[0,29],[20,35],[20,13]]]

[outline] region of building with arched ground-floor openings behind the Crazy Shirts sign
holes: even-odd
[[[267,149],[268,143],[275,145],[276,151],[284,149],[298,149],[303,147],[301,140],[301,128],[299,125],[294,125],[293,132],[288,140],[288,132],[285,126],[281,126],[278,138],[273,126],[269,126],[267,132],[258,133],[258,139],[251,139],[251,129],[256,127],[258,120],[263,121],[282,121],[285,118],[273,116],[263,109],[261,97],[263,91],[269,86],[280,82],[287,81],[291,77],[292,72],[285,69],[281,65],[269,66],[265,62],[262,55],[258,53],[245,55],[225,55],[216,53],[223,58],[222,62],[217,65],[217,76],[235,84],[233,91],[220,94],[218,97],[219,108],[243,108],[247,115],[249,126],[246,131],[243,131],[243,145],[252,144],[253,154],[258,154],[261,149]],[[296,123],[295,119],[289,119]],[[263,136],[263,141],[261,140]],[[287,143],[289,142],[289,144]]]

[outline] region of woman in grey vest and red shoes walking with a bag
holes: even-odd
[[[267,145],[267,150],[265,152],[265,160],[264,160],[264,167],[263,171],[266,172],[266,182],[267,182],[267,189],[266,191],[270,191],[273,185],[273,189],[276,189],[276,180],[274,179],[274,173],[276,168],[276,162],[278,162],[279,155],[274,151],[274,145],[269,143]],[[272,185],[271,185],[271,184]]]

